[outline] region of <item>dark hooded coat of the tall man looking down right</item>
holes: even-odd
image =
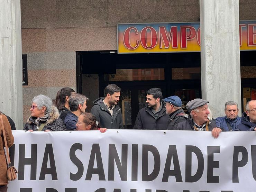
[[[116,105],[113,109],[113,117],[103,103],[104,97],[98,98],[93,101],[93,107],[91,113],[96,117],[97,121],[100,122],[100,126],[108,129],[122,129],[123,118],[121,108]]]

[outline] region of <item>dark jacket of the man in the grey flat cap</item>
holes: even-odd
[[[208,127],[209,131],[212,131],[212,129],[214,127],[216,127],[215,121],[214,120],[210,121],[208,126],[209,126]],[[220,128],[220,129],[223,131],[222,128]],[[174,126],[173,130],[194,131],[195,129],[194,129],[194,122],[193,122],[192,117],[189,115],[189,118],[186,121],[183,121],[183,122],[180,122],[180,123],[176,124]]]

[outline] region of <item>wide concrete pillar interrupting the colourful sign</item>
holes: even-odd
[[[213,117],[224,116],[226,101],[241,116],[239,0],[200,0],[202,99]]]

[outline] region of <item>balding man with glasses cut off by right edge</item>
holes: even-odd
[[[248,101],[245,109],[241,124],[235,127],[235,131],[256,131],[256,100]]]

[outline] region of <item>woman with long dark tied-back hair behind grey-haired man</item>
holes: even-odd
[[[75,92],[73,89],[69,87],[64,87],[60,91],[57,92],[55,106],[60,112],[60,118],[64,121],[67,116],[67,112],[70,111],[68,100],[72,92]]]

